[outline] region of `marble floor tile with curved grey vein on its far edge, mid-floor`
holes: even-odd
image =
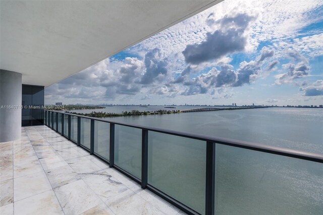
[[[104,171],[92,173],[83,180],[102,199],[102,201],[106,201],[129,189]]]

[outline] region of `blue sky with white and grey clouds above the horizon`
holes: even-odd
[[[226,0],[45,89],[45,103],[323,104],[323,1]]]

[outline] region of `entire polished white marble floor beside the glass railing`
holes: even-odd
[[[184,214],[46,126],[0,143],[0,214]]]

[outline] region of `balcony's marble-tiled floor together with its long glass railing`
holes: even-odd
[[[44,124],[0,145],[2,214],[323,208],[320,154],[53,111]]]

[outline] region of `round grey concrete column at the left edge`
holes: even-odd
[[[0,142],[21,138],[21,73],[0,70]]]

